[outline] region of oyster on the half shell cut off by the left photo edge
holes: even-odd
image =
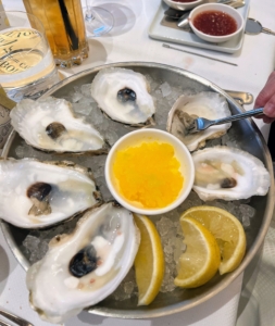
[[[0,217],[24,228],[57,224],[101,202],[89,168],[73,162],[0,160]]]

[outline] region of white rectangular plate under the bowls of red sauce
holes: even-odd
[[[237,9],[243,16],[245,22],[248,17],[249,4],[250,0],[246,0],[246,5]],[[229,41],[210,43],[200,39],[193,33],[177,27],[176,20],[171,20],[170,22],[167,22],[167,20],[164,21],[164,11],[167,9],[168,7],[162,1],[148,30],[151,38],[226,53],[235,53],[241,49],[245,30]]]

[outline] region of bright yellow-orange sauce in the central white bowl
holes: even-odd
[[[118,192],[146,209],[160,209],[178,197],[184,185],[172,145],[141,142],[116,152],[113,174]]]

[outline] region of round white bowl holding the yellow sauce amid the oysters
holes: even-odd
[[[114,176],[113,176],[113,164],[115,160],[115,153],[120,150],[124,150],[127,147],[130,146],[138,146],[142,141],[149,142],[149,141],[160,141],[160,142],[167,142],[174,147],[175,150],[175,156],[180,163],[179,171],[182,172],[184,176],[184,186],[182,190],[179,191],[178,197],[174,202],[172,202],[170,205],[161,209],[143,209],[140,206],[135,206],[133,203],[127,201],[115,188],[114,186]],[[138,164],[138,162],[137,162]],[[125,136],[123,136],[120,140],[115,142],[115,145],[112,147],[111,151],[108,154],[107,163],[105,163],[105,180],[109,190],[117,200],[118,203],[121,203],[125,209],[128,209],[132,212],[145,214],[145,215],[155,215],[168,212],[176,206],[178,206],[189,195],[192,185],[193,185],[193,178],[195,178],[195,167],[193,162],[190,152],[188,151],[187,147],[179,141],[175,136],[158,129],[140,129],[137,131],[129,133]]]

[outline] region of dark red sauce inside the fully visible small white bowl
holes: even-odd
[[[222,11],[201,12],[195,16],[192,23],[200,32],[213,36],[229,35],[237,30],[237,22]]]

